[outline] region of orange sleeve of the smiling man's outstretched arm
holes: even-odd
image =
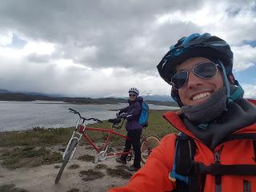
[[[175,183],[170,182],[169,172],[172,170],[175,135],[169,134],[156,147],[145,166],[130,179],[126,186],[110,189],[109,192],[148,192],[174,190]]]

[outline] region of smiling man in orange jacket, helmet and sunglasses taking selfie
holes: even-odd
[[[164,118],[179,134],[162,138],[127,186],[111,191],[256,191],[256,107],[232,74],[221,38],[181,38],[158,64],[181,112]]]

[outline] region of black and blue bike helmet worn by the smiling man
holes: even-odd
[[[233,52],[230,50],[229,44],[217,36],[207,33],[191,34],[179,39],[174,46],[170,46],[170,50],[159,62],[158,72],[170,84],[172,76],[177,72],[176,67],[187,59],[195,57],[208,58],[222,66],[224,82],[227,86],[227,96],[230,97],[230,86],[227,77],[233,75]],[[172,87],[171,96],[178,102],[179,106],[182,106],[178,90],[175,90],[174,87]]]

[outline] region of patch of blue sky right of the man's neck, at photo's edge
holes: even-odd
[[[250,66],[246,70],[235,72],[234,77],[241,84],[246,83],[256,85],[256,65]]]

